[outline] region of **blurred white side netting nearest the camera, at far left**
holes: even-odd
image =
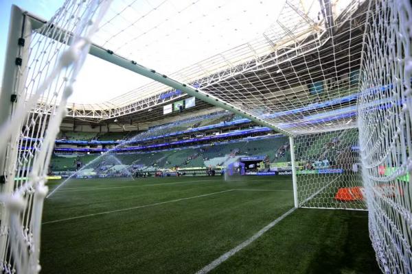
[[[1,140],[10,140],[0,144],[0,154],[7,159],[0,197],[3,273],[40,270],[41,214],[54,140],[71,86],[89,51],[89,37],[108,3],[68,0],[47,24],[33,31],[27,16],[21,16],[26,27],[19,54],[23,63],[16,66],[15,79],[4,79],[14,82],[17,101],[10,119],[0,127]],[[15,42],[10,41],[12,47]],[[36,111],[31,111],[34,107]]]

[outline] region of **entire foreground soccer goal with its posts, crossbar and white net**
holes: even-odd
[[[162,83],[289,136],[295,206],[367,208],[382,271],[412,272],[410,1],[286,1],[260,38],[171,75],[122,57],[140,46],[126,35],[135,22],[122,23],[133,4],[105,16],[110,2],[66,1],[49,22],[13,8],[0,95],[5,272],[38,272],[47,166],[88,51],[157,82],[143,90]],[[99,26],[118,50],[91,43]]]

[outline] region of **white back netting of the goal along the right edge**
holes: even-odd
[[[412,8],[373,1],[358,102],[369,230],[385,273],[412,273]]]

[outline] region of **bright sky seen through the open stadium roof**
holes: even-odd
[[[275,22],[283,3],[115,0],[93,42],[168,75],[262,35]],[[0,1],[1,78],[12,4],[48,20],[63,1]],[[102,103],[149,82],[146,77],[89,55],[69,101]]]

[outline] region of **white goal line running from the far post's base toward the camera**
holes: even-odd
[[[244,249],[244,247],[247,247],[248,245],[250,245],[252,242],[254,242],[257,238],[259,238],[260,236],[262,236],[265,232],[267,232],[269,229],[271,229],[272,227],[274,227],[277,223],[279,223],[280,221],[282,221],[283,219],[286,218],[286,216],[288,216],[289,214],[291,214],[292,212],[294,212],[296,210],[296,208],[291,208],[290,210],[288,210],[287,212],[285,212],[282,216],[280,216],[279,218],[275,219],[275,221],[273,221],[272,223],[269,223],[268,225],[266,225],[266,227],[263,227],[262,229],[259,230],[258,233],[254,234],[253,236],[251,236],[251,238],[245,240],[244,242],[242,242],[240,245],[238,245],[237,247],[234,247],[233,249],[227,251],[225,254],[223,254],[222,256],[220,256],[219,258],[217,258],[216,260],[214,260],[213,262],[211,262],[210,264],[207,264],[207,266],[203,267],[203,269],[199,270],[198,272],[196,272],[196,274],[205,274],[205,273],[209,273],[209,271],[211,271],[212,269],[216,268],[216,266],[218,266],[219,264],[221,264],[222,262],[225,262],[225,260],[229,259],[231,256],[235,255],[236,253],[238,253],[240,250]]]

